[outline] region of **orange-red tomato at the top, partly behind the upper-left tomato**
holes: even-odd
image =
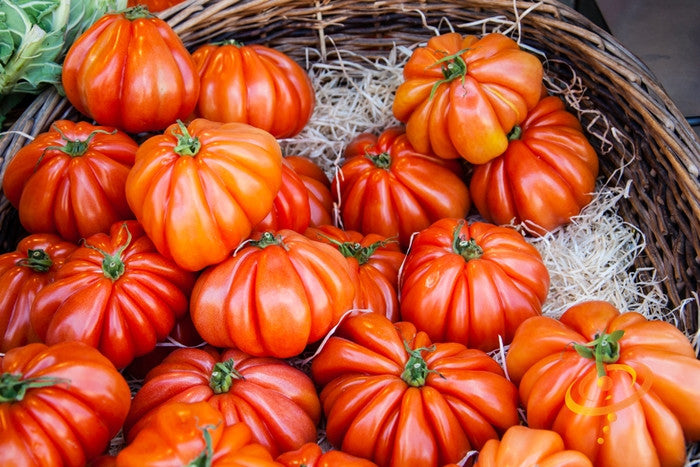
[[[198,116],[248,123],[276,138],[297,135],[311,118],[311,80],[288,55],[230,40],[202,45],[192,58],[201,78]]]

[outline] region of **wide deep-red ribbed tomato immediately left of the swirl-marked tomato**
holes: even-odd
[[[517,389],[488,354],[378,313],[344,319],[311,376],[328,441],[380,466],[458,462],[518,423]]]

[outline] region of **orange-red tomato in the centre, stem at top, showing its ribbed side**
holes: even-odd
[[[211,345],[294,357],[352,308],[353,274],[331,245],[292,230],[265,232],[199,276],[192,322]]]

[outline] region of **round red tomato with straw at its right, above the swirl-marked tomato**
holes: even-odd
[[[515,229],[446,218],[413,239],[399,290],[401,319],[434,341],[490,351],[542,313],[549,272]]]

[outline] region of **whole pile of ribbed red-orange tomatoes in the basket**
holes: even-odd
[[[27,231],[0,255],[3,465],[683,465],[688,339],[602,301],[542,316],[513,224],[569,222],[598,159],[540,60],[449,33],[404,78],[402,125],[348,141],[331,180],[282,154],[315,106],[283,53],[190,53],[143,7],[79,37],[86,119],[2,182]]]

